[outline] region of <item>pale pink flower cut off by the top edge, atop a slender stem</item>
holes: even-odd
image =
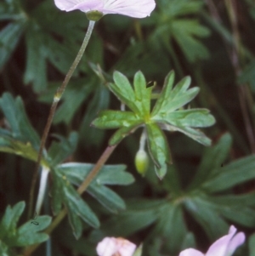
[[[56,6],[66,12],[80,9],[82,12],[98,11],[102,14],[122,14],[133,18],[150,16],[155,9],[154,0],[54,0]]]

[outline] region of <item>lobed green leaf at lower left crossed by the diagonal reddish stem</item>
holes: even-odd
[[[77,238],[82,235],[82,220],[88,225],[99,227],[96,215],[73,187],[73,185],[81,185],[93,167],[94,165],[89,163],[68,162],[54,168],[52,172],[54,185],[51,194],[54,213],[59,213],[62,203],[65,204],[73,233]],[[125,202],[105,185],[133,183],[133,176],[124,172],[125,168],[124,165],[105,165],[88,186],[88,193],[111,213],[118,213],[125,209]]]

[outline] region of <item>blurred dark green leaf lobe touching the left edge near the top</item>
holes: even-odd
[[[0,31],[0,71],[13,54],[20,37],[25,29],[26,22],[17,20],[9,23]]]

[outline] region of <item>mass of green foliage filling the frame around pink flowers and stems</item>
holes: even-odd
[[[143,255],[206,253],[229,225],[246,232],[235,256],[255,256],[254,26],[253,0],[156,0],[146,19],[109,14],[96,23],[41,162],[50,169],[42,212],[54,217],[65,206],[71,223],[50,234],[55,256],[94,256],[105,236],[143,242]],[[48,239],[50,217],[39,216],[38,226],[26,213],[20,219],[21,201],[49,105],[87,27],[84,13],[62,12],[54,0],[0,1],[0,255]],[[165,78],[171,70],[176,78]],[[120,101],[125,111],[116,111]],[[139,128],[152,161],[133,182]],[[111,164],[78,195],[109,138],[120,142]]]

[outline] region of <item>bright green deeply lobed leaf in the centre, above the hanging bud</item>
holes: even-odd
[[[171,71],[164,82],[161,94],[150,113],[152,89],[146,87],[141,71],[133,79],[133,87],[127,77],[114,72],[114,82],[108,86],[111,92],[131,111],[101,111],[92,125],[96,128],[118,128],[109,144],[119,143],[137,128],[144,127],[150,156],[156,167],[156,174],[161,179],[167,173],[167,164],[171,162],[167,139],[161,129],[179,131],[202,145],[211,145],[211,140],[196,128],[209,127],[215,119],[206,109],[179,110],[195,98],[199,88],[190,87],[190,77],[184,77],[173,87],[174,72]]]

